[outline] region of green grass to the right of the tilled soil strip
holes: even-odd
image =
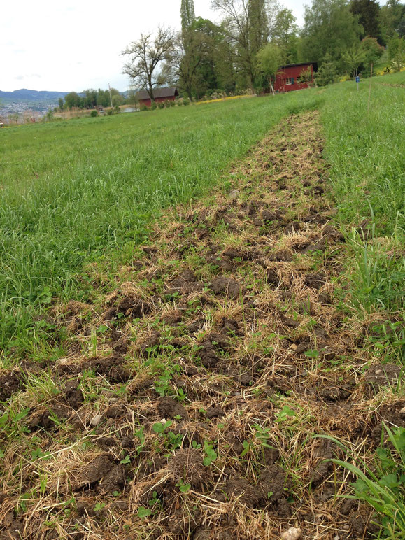
[[[405,92],[378,80],[371,81],[369,111],[369,80],[359,92],[353,82],[328,87],[322,123],[339,218],[353,226],[348,278],[354,303],[392,311],[404,301]],[[368,236],[358,231],[364,219]]]

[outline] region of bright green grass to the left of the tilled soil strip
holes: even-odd
[[[85,294],[83,264],[130,257],[159,209],[201,195],[280,118],[319,99],[308,91],[3,129],[1,348],[27,348],[39,331],[31,312]]]

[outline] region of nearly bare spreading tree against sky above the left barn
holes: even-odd
[[[155,37],[152,34],[141,34],[138,41],[132,41],[122,51],[122,55],[129,57],[123,73],[132,79],[133,85],[145,88],[151,101],[155,101],[153,88],[162,83],[159,67],[169,57],[173,38],[171,29],[159,27]]]

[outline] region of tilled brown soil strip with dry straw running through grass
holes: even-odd
[[[367,455],[405,403],[397,367],[367,371],[367,328],[336,299],[346,248],[322,146],[318,113],[288,118],[226,193],[162,215],[115,292],[94,271],[94,304],[55,308],[71,352],[45,360],[52,383],[0,377],[26,407],[22,439],[1,445],[0,539],[375,530],[339,497],[353,478],[325,460],[344,453],[316,436]]]

